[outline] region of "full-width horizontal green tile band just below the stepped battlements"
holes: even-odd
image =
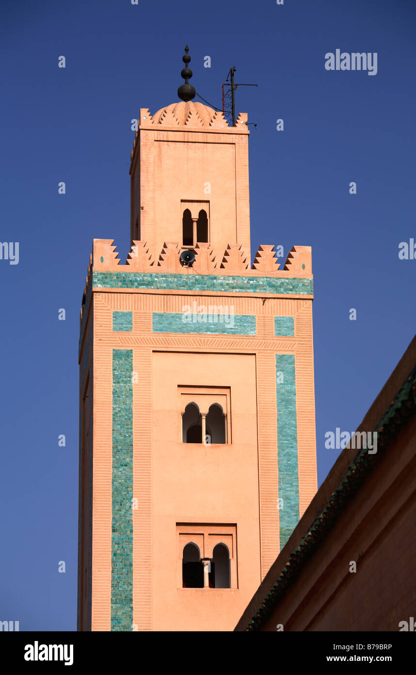
[[[211,291],[216,293],[274,293],[312,295],[312,279],[297,277],[231,277],[209,274],[162,274],[153,272],[93,272],[94,288],[158,288],[161,290]]]

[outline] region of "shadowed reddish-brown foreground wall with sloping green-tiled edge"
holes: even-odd
[[[416,339],[359,427],[378,431],[377,453],[343,450],[236,630],[396,631],[411,623],[415,363]]]

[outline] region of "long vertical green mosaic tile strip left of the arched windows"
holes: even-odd
[[[133,372],[132,350],[113,350],[111,630],[133,624]]]

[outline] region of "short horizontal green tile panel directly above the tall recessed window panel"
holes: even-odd
[[[187,319],[190,319],[190,321]],[[256,317],[154,312],[153,331],[154,333],[256,335]]]

